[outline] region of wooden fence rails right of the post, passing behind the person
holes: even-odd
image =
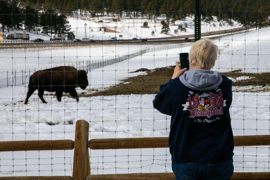
[[[234,136],[234,146],[259,146],[270,145],[270,135],[253,135],[253,136]],[[108,138],[108,139],[91,139],[88,141],[88,147],[93,150],[101,149],[136,149],[136,148],[167,148],[168,138]],[[112,180],[112,179],[129,179],[129,180],[160,180],[175,179],[174,173],[134,173],[134,174],[104,174],[89,175],[86,180]],[[231,179],[270,179],[270,172],[235,172]]]

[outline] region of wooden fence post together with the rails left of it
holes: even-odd
[[[73,150],[73,177],[71,176],[13,176],[0,177],[0,180],[84,180],[90,175],[88,153],[89,123],[78,120],[75,127],[75,142],[72,140],[39,140],[39,141],[2,141],[1,151],[36,151],[36,150]]]

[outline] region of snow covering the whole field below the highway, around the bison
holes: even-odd
[[[227,72],[242,69],[244,72],[252,73],[269,72],[269,31],[270,28],[264,28],[214,40],[220,47],[220,55],[214,70]],[[91,47],[90,52],[89,47],[78,47],[76,50],[67,48],[65,56],[78,56],[69,59],[70,63],[75,63],[79,56],[89,56],[90,53],[91,56],[115,55],[123,53],[127,48],[134,50],[140,46],[104,46],[103,51],[102,48],[98,48],[100,47]],[[90,86],[87,90],[101,89],[110,84],[118,84],[126,77],[144,74],[144,72],[129,73],[140,68],[154,69],[174,65],[179,58],[178,53],[188,52],[189,49],[190,47],[180,47],[149,52],[92,70],[88,74]],[[36,49],[5,50],[1,52],[0,69],[14,71],[13,68],[17,64],[27,68],[38,66],[38,56],[48,58],[39,58],[40,67],[51,63],[54,66],[63,62],[63,52],[62,48],[41,49],[39,52],[36,52]],[[53,61],[50,60],[51,53],[56,56]],[[12,61],[12,56],[17,58]],[[26,60],[24,57],[27,57]],[[43,104],[35,92],[28,105],[25,105],[23,101],[26,92],[27,84],[0,89],[1,140],[74,140],[75,122],[79,119],[90,123],[90,139],[168,137],[170,131],[170,116],[161,114],[153,108],[154,94],[80,97],[78,103],[69,97],[63,97],[62,102],[58,102],[54,96],[46,95],[48,104]],[[269,134],[269,92],[234,92],[230,112],[234,135]],[[51,126],[48,123],[55,125]],[[235,172],[269,171],[269,146],[235,147],[234,154]],[[0,176],[72,175],[72,157],[73,151],[0,152]],[[172,172],[170,158],[168,148],[91,150],[91,173]]]

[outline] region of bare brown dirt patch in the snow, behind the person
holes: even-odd
[[[91,89],[92,93],[79,94],[79,96],[115,96],[127,94],[156,94],[159,86],[168,82],[173,76],[175,66],[156,68],[154,70],[140,69],[147,74],[123,79],[120,84],[102,90]],[[233,80],[233,91],[257,92],[270,90],[270,73],[244,73],[235,70],[220,73]]]

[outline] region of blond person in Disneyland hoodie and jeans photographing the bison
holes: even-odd
[[[189,70],[176,62],[153,106],[171,116],[169,148],[176,179],[231,179],[234,139],[232,81],[212,71],[218,47],[201,39],[190,49]]]

